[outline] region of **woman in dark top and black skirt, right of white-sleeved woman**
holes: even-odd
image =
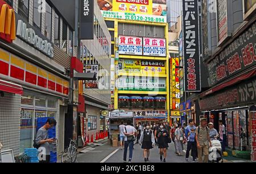
[[[159,130],[156,132],[158,138],[158,148],[160,149],[160,160],[166,162],[166,148],[168,147],[167,138],[169,135],[168,131],[164,129],[163,123],[160,124]],[[164,159],[163,159],[164,155]]]

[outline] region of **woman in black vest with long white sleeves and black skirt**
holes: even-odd
[[[146,130],[141,133],[141,138],[139,139],[139,145],[143,148],[144,161],[148,161],[150,156],[150,149],[155,146],[155,136],[154,132],[150,129],[149,124],[146,125]]]

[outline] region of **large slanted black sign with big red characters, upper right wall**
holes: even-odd
[[[217,84],[256,64],[256,22],[207,64],[210,85]]]

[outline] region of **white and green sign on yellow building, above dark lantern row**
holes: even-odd
[[[166,78],[121,76],[118,78],[118,90],[166,91]]]

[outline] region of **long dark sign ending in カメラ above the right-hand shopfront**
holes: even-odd
[[[256,77],[199,101],[200,109],[221,109],[255,102]]]

